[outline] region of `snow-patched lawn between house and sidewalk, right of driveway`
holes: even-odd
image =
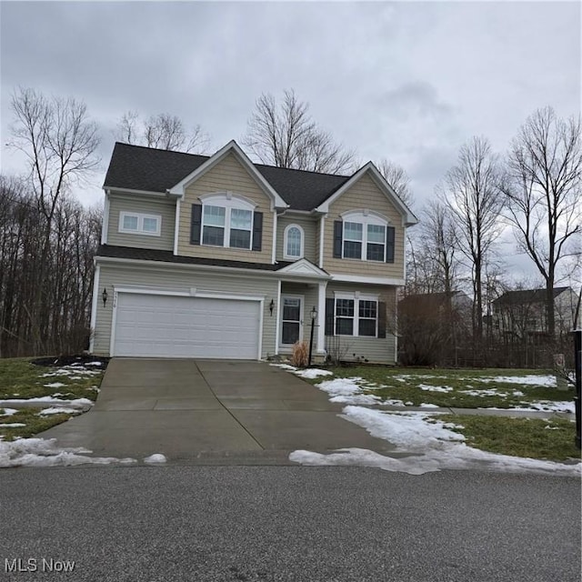
[[[517,369],[416,369],[383,366],[338,366],[328,368],[335,377],[360,377],[365,394],[383,400],[402,400],[408,406],[434,404],[457,408],[514,408],[539,401],[572,401],[574,387],[558,390],[551,386],[535,386],[529,382],[539,377],[544,383],[547,374],[538,370]],[[503,376],[509,377],[509,381]],[[526,377],[520,383],[519,377]],[[492,378],[497,378],[492,380]],[[318,384],[331,376],[317,378]]]

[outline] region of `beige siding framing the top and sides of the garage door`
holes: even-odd
[[[98,259],[97,259],[98,260]],[[196,271],[174,266],[135,266],[129,263],[112,265],[101,263],[99,276],[99,294],[106,288],[109,299],[104,308],[100,295],[97,301],[95,320],[94,353],[109,356],[111,342],[111,323],[113,316],[114,286],[144,286],[158,290],[172,289],[186,291],[192,287],[197,292],[216,292],[230,296],[263,296],[263,345],[262,356],[275,353],[276,311],[270,315],[269,303],[276,302],[277,283],[275,277],[228,275]]]

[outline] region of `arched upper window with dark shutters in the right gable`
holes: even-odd
[[[395,228],[372,211],[342,215],[334,224],[334,257],[394,263]]]

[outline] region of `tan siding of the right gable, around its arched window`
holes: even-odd
[[[362,261],[354,258],[334,258],[334,222],[350,210],[375,210],[386,216],[389,226],[396,228],[394,263]],[[324,266],[328,273],[346,275],[404,277],[404,235],[402,216],[376,186],[372,178],[362,176],[354,186],[329,207],[325,226]]]

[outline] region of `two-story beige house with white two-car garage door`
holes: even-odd
[[[95,256],[91,351],[260,359],[341,337],[396,361],[386,314],[416,217],[372,163],[353,176],[115,144]],[[328,336],[328,337],[326,337]]]

